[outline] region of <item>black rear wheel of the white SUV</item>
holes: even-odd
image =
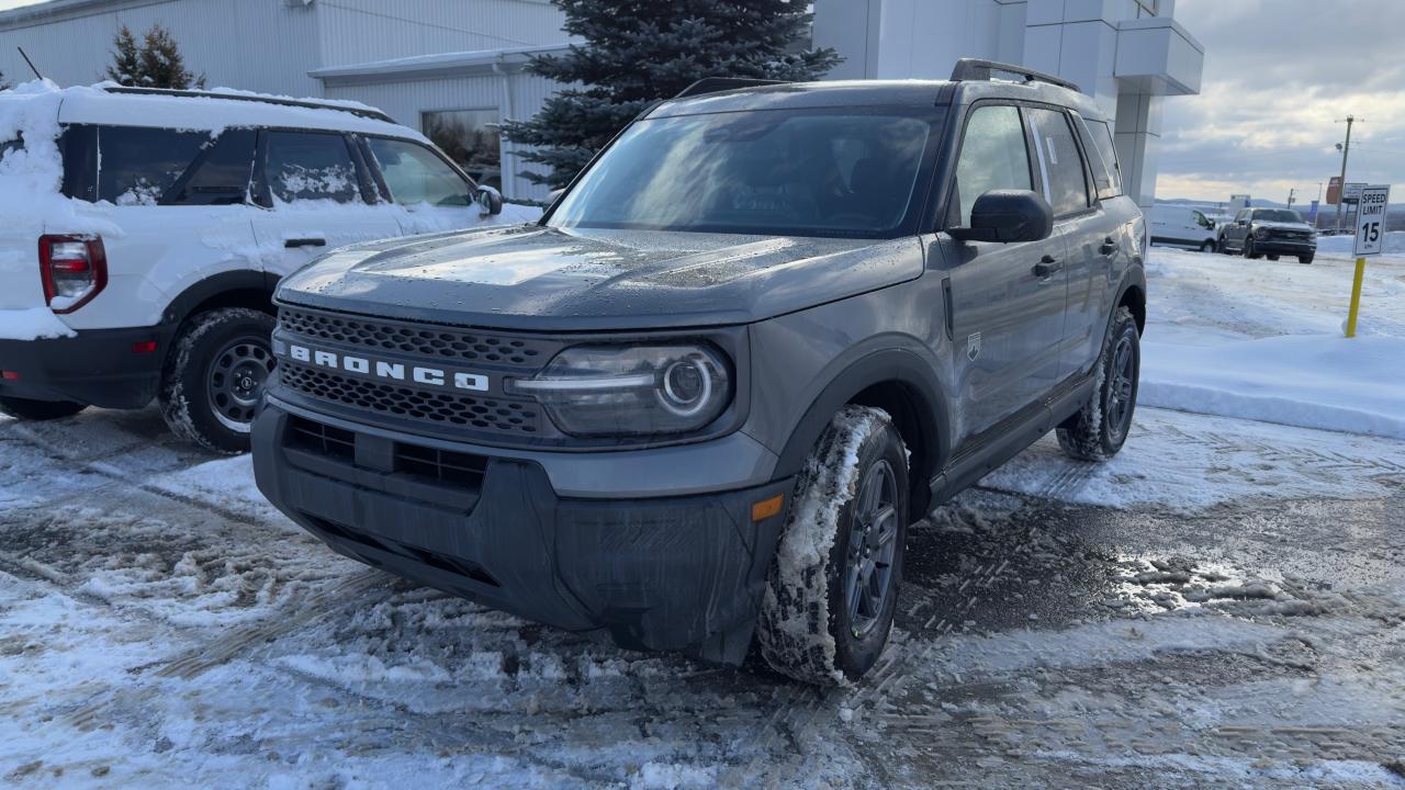
[[[162,416],[171,432],[215,453],[244,453],[263,384],[273,373],[274,319],[249,308],[190,318],[162,371]],[[237,382],[253,381],[254,387]]]

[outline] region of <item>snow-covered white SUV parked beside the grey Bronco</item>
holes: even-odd
[[[502,222],[502,209],[364,105],[0,91],[0,410],[52,419],[159,398],[180,436],[244,450],[274,368],[281,277],[333,247]]]

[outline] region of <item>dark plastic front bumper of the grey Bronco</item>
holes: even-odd
[[[259,489],[340,554],[429,586],[624,648],[745,658],[785,517],[753,522],[752,505],[788,505],[792,479],[570,499],[538,461],[405,439],[268,403],[253,432]],[[614,474],[611,453],[593,457]]]

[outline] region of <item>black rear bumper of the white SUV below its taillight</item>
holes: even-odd
[[[0,396],[139,409],[156,396],[173,328],[89,329],[73,337],[0,340]],[[156,342],[155,351],[136,353]],[[17,377],[17,378],[15,378]]]

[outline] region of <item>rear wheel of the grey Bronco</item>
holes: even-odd
[[[1123,448],[1137,410],[1137,381],[1141,373],[1141,336],[1137,319],[1125,306],[1117,308],[1113,325],[1097,357],[1093,394],[1055,433],[1058,446],[1082,461],[1111,458]]]

